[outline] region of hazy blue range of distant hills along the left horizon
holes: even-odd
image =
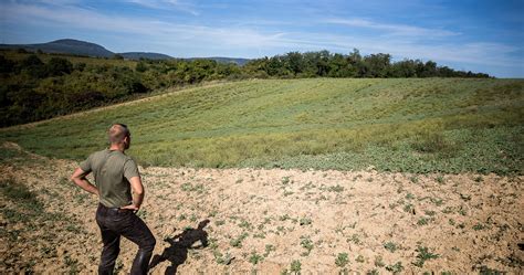
[[[74,40],[74,39],[61,39],[48,43],[40,44],[0,44],[0,49],[24,49],[29,52],[36,52],[38,50],[44,53],[63,53],[63,54],[73,54],[73,55],[86,55],[93,57],[113,57],[115,54],[120,54],[124,59],[128,60],[171,60],[175,59],[170,55],[163,53],[151,53],[151,52],[127,52],[127,53],[115,53],[102,45]],[[214,60],[219,63],[234,63],[238,65],[244,65],[248,63],[248,59],[232,59],[232,57],[191,57],[182,60]]]

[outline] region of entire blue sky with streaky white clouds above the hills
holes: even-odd
[[[356,47],[524,77],[522,0],[0,0],[0,43],[64,38],[177,57]]]

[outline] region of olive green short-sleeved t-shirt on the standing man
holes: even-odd
[[[99,201],[107,208],[120,208],[133,203],[129,179],[139,177],[135,160],[118,150],[105,149],[93,152],[80,168],[93,172],[99,192]]]

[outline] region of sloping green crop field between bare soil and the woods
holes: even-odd
[[[118,121],[144,166],[522,174],[523,92],[522,80],[242,81],[0,129],[0,142],[80,160]]]

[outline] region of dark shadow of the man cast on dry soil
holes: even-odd
[[[184,230],[182,233],[172,237],[164,239],[171,246],[166,247],[161,255],[155,255],[149,264],[149,268],[157,266],[159,263],[169,261],[171,265],[167,267],[165,274],[176,274],[179,265],[184,264],[188,258],[189,250],[203,248],[208,246],[208,232],[203,230],[208,225],[209,220],[203,220],[198,224],[197,229]],[[200,241],[200,244],[195,244]]]

